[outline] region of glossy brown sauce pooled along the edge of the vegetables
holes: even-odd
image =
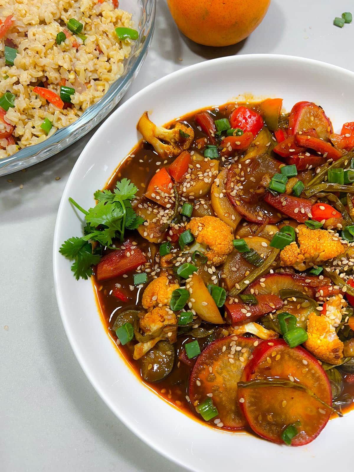
[[[239,103],[237,105],[242,105],[244,103]],[[218,118],[229,118],[231,111],[236,108],[237,106],[235,103],[229,103],[219,108],[213,109],[205,109],[211,111],[212,114],[215,116],[216,119]],[[256,111],[259,111],[259,107],[257,104],[247,104],[248,108],[253,108]],[[183,121],[188,123],[189,126],[193,127],[195,137],[194,137],[194,144],[189,149],[189,151],[197,151],[197,147],[195,144],[195,140],[198,138],[205,137],[205,135],[198,129],[194,122],[194,115],[201,110],[194,111],[188,115],[185,115],[183,118],[180,118],[177,121]],[[175,123],[176,121],[171,122]],[[163,167],[164,165],[168,165],[173,161],[173,158],[162,159],[152,148],[152,146],[148,143],[140,142],[138,145],[130,152],[130,154],[126,157],[126,159],[119,165],[119,167],[115,170],[114,174],[110,178],[107,186],[105,188],[113,190],[117,180],[120,180],[124,177],[130,179],[138,188],[138,197],[142,197],[149,181],[151,180],[153,174],[156,172],[157,169]],[[225,160],[226,165],[228,160]],[[306,172],[306,171],[305,171]],[[209,198],[209,197],[208,197]],[[133,241],[136,241],[139,248],[143,251],[143,253],[148,254],[149,259],[149,248],[152,246],[152,243],[149,243],[146,239],[140,236],[137,231],[134,233],[129,233],[126,236],[133,236]],[[156,245],[157,247],[157,245]],[[124,357],[126,363],[129,367],[135,372],[135,375],[141,379],[141,381],[150,388],[153,392],[167,401],[170,405],[181,410],[183,413],[187,414],[194,418],[194,420],[201,421],[204,425],[207,424],[215,429],[218,429],[212,422],[205,422],[202,420],[201,416],[195,413],[194,407],[190,405],[187,401],[186,396],[188,395],[188,380],[189,374],[191,371],[191,367],[188,367],[183,362],[180,362],[178,359],[178,355],[183,349],[183,345],[186,341],[194,340],[193,337],[190,336],[178,336],[177,343],[174,344],[175,346],[175,366],[173,371],[169,374],[166,379],[161,380],[160,382],[156,383],[149,383],[144,381],[140,375],[140,365],[138,361],[133,360],[133,350],[134,346],[132,343],[128,343],[126,346],[117,346],[117,336],[115,331],[112,330],[113,323],[116,319],[117,312],[121,308],[134,308],[136,305],[141,305],[141,298],[142,298],[142,289],[138,289],[134,287],[133,283],[133,275],[134,272],[130,272],[127,274],[127,277],[118,277],[113,278],[107,281],[97,281],[95,274],[93,276],[93,284],[95,288],[95,294],[97,297],[97,304],[99,307],[99,311],[101,312],[101,319],[104,323],[105,328],[109,336],[111,337],[113,343],[117,347],[118,351]],[[112,290],[116,287],[116,284],[121,284],[122,287],[127,287],[127,291],[129,292],[129,296],[131,299],[128,302],[121,302],[118,298],[110,295]],[[133,288],[132,290],[129,288]],[[145,285],[146,287],[146,285]],[[203,344],[206,346],[208,342],[206,339],[200,339],[201,349]],[[119,361],[118,361],[119,362]],[[345,383],[343,395],[350,395],[354,398],[354,385],[350,385]],[[351,405],[346,405],[342,407],[342,411],[346,412],[353,408],[353,403]],[[333,415],[335,417],[336,415]],[[224,430],[225,431],[225,430]],[[242,430],[240,430],[242,431]],[[235,431],[233,431],[235,432]],[[236,431],[237,432],[237,431]]]

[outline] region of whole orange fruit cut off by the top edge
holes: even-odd
[[[270,0],[167,0],[178,28],[205,46],[242,41],[261,23]]]

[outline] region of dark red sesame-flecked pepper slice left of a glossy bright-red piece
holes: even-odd
[[[306,198],[286,194],[272,195],[267,192],[263,200],[299,223],[304,223],[310,218],[312,203]]]

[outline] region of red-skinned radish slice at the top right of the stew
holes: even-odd
[[[299,101],[290,112],[289,135],[310,128],[315,128],[317,135],[326,140],[333,133],[331,122],[321,107],[311,101]]]

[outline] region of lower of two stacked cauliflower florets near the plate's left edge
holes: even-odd
[[[140,327],[147,335],[158,333],[158,336],[135,344],[133,354],[135,361],[150,351],[161,339],[169,339],[170,343],[176,342],[177,316],[168,306],[158,306],[147,312],[140,320]],[[166,328],[163,329],[164,327]]]

